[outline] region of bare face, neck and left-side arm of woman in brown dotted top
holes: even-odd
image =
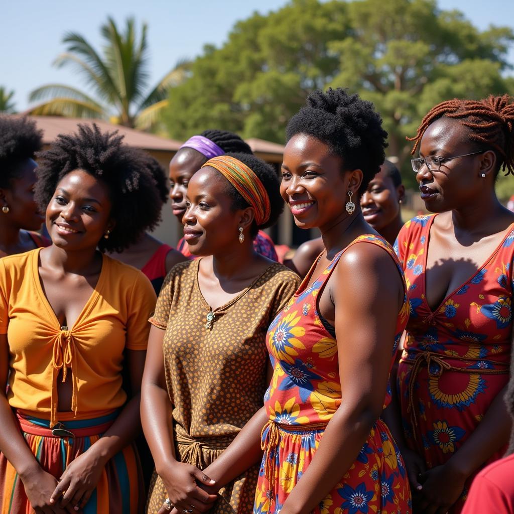
[[[225,188],[225,178],[213,168],[206,167],[195,173],[189,182],[187,210],[182,219],[190,251],[203,257],[199,263],[198,285],[213,311],[240,295],[271,264],[269,259],[253,250],[250,237],[253,208],[233,210],[233,200]],[[238,240],[240,227],[245,236],[243,244]],[[162,360],[164,332],[155,326],[150,329],[142,385],[143,431],[155,459],[156,471],[166,486],[170,501],[176,505],[175,512],[185,509],[207,512],[216,500],[220,486],[211,481],[207,471],[176,460],[171,418],[173,406]],[[169,511],[161,507],[159,512]]]

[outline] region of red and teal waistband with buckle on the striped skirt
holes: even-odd
[[[23,432],[32,435],[42,435],[43,437],[89,437],[91,435],[100,435],[105,433],[118,417],[118,411],[115,411],[106,416],[101,416],[93,419],[81,419],[76,421],[64,421],[57,426],[50,428],[50,421],[47,419],[40,419],[32,416],[24,416],[16,413],[16,417]],[[61,433],[62,435],[56,434]],[[69,435],[71,434],[71,435]]]

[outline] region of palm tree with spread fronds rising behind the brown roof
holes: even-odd
[[[34,89],[30,101],[45,100],[29,114],[79,118],[103,118],[142,130],[151,128],[168,104],[168,89],[187,78],[189,62],[181,61],[148,92],[148,49],[146,24],[137,40],[133,18],[120,33],[109,17],[100,31],[105,40],[103,56],[82,35],[68,32],[63,39],[66,52],[54,65],[72,65],[86,78],[95,97],[63,84],[47,84]]]

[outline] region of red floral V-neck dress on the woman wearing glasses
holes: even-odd
[[[403,431],[429,469],[462,446],[508,382],[514,255],[513,224],[484,265],[432,311],[425,270],[435,216],[407,222],[395,243],[410,305],[398,368]],[[452,514],[461,512],[472,478]]]

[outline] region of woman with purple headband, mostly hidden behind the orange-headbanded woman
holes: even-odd
[[[237,134],[223,130],[206,130],[199,136],[189,138],[179,148],[170,161],[170,198],[173,214],[182,223],[186,212],[186,193],[191,177],[207,162],[208,159],[226,153],[252,154],[246,144]],[[253,238],[255,251],[272,261],[278,261],[277,252],[271,237],[259,230]],[[177,244],[179,251],[188,259],[194,259],[185,238]]]

